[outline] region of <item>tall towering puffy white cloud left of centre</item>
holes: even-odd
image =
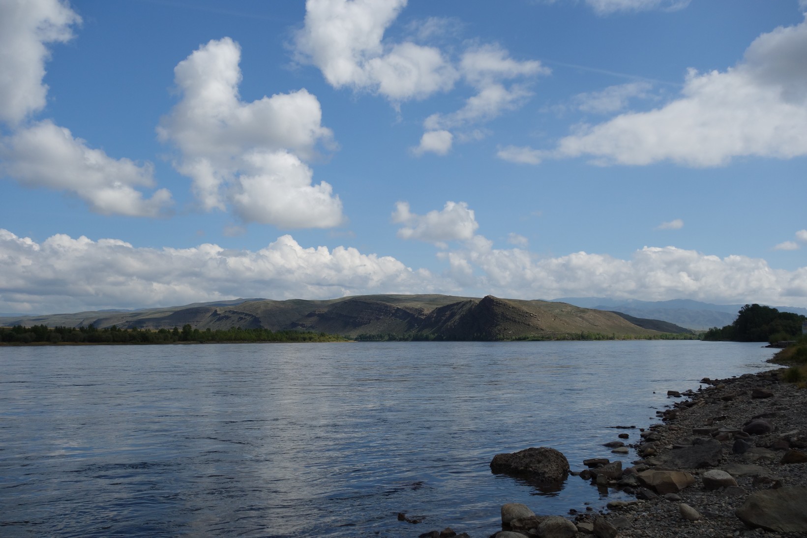
[[[193,180],[204,210],[232,206],[245,222],[333,227],[341,200],[303,163],[332,147],[317,98],[306,90],[240,101],[240,47],[211,40],[174,69],[182,99],[161,119],[160,140],[179,150],[175,167]]]

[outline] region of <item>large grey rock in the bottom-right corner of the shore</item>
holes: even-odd
[[[736,515],[751,528],[807,532],[807,487],[786,486],[751,494]]]

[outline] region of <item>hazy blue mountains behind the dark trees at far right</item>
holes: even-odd
[[[734,322],[738,311],[745,305],[718,305],[690,299],[670,301],[638,301],[635,299],[613,299],[608,297],[564,297],[553,299],[567,302],[577,307],[597,310],[620,311],[638,318],[663,319],[681,327],[695,331],[711,327],[724,327]],[[794,312],[807,315],[807,308],[775,307],[780,312]]]

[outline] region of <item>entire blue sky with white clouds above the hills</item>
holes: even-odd
[[[807,307],[805,12],[0,0],[0,312]]]

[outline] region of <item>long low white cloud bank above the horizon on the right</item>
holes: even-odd
[[[475,285],[502,297],[807,304],[807,267],[772,269],[766,261],[747,256],[721,258],[675,247],[645,247],[629,260],[587,252],[539,258],[521,248],[493,248],[480,236],[441,256],[449,259],[450,274],[475,268],[481,275]]]

